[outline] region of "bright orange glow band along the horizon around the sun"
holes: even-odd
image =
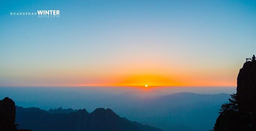
[[[232,78],[234,79],[234,78]],[[191,77],[186,75],[116,75],[108,77],[98,78],[72,78],[69,80],[53,81],[52,83],[44,82],[42,84],[25,85],[20,84],[19,86],[52,86],[52,87],[141,87],[141,88],[153,88],[153,87],[203,87],[203,86],[236,86],[234,79],[232,81],[223,80],[222,78],[216,77],[216,79],[201,77],[199,75]],[[86,81],[85,81],[86,80]],[[148,85],[148,87],[146,86]],[[12,85],[11,85],[12,86]],[[14,85],[15,86],[15,85]]]

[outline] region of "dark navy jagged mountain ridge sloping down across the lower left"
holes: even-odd
[[[34,131],[161,131],[121,118],[111,109],[97,108],[92,113],[86,109],[68,111],[58,108],[54,113],[52,109],[16,106],[16,122],[21,128]]]

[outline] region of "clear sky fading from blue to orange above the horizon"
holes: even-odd
[[[10,15],[37,10],[60,15]],[[247,0],[1,0],[0,86],[235,86],[255,23]]]

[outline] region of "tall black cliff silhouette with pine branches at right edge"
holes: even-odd
[[[256,61],[240,69],[236,94],[223,104],[214,131],[256,131]]]

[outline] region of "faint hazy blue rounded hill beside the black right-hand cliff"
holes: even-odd
[[[219,107],[229,97],[225,93],[173,93],[137,102],[136,108],[126,110],[126,116],[164,131],[209,131],[219,115]]]

